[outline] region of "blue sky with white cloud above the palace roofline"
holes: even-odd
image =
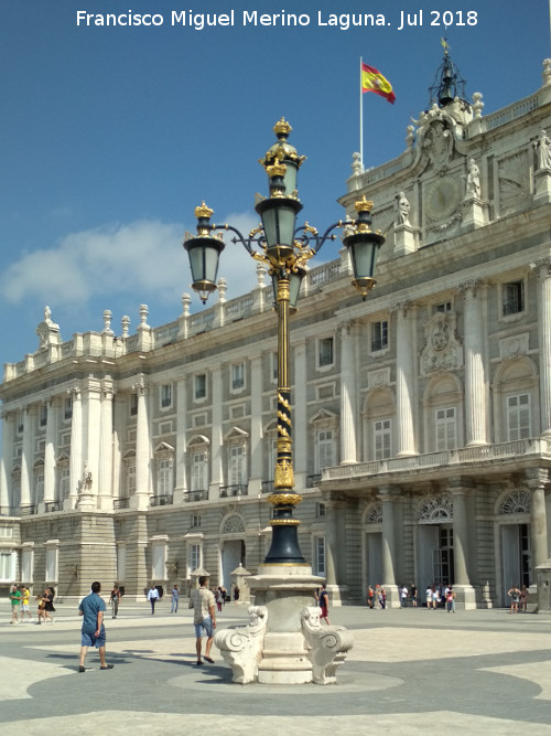
[[[155,12],[164,23],[77,25],[77,10]],[[234,10],[235,25],[172,26],[173,10]],[[311,22],[244,26],[244,10],[284,10]],[[419,21],[420,10],[423,25],[398,30],[400,11]],[[447,29],[445,10],[455,21]],[[328,22],[331,13],[366,12],[382,13],[387,24],[318,24],[318,13]],[[387,76],[397,96],[393,106],[364,96],[369,167],[404,150],[410,117],[428,105],[443,35],[467,81],[466,97],[482,92],[491,113],[540,86],[542,60],[551,55],[549,1],[4,0],[0,362],[36,350],[46,303],[63,340],[100,331],[104,309],[112,311],[117,333],[123,314],[134,332],[140,303],[149,305],[151,326],[176,319],[182,292],[191,292],[181,243],[194,230],[194,207],[205,199],[217,222],[244,231],[256,224],[255,193],[267,189],[258,159],[281,116],[307,156],[301,216],[318,230],[338,220],[336,200],[359,148],[359,57]],[[327,244],[320,258],[336,257],[337,247]],[[224,252],[219,276],[228,279],[228,297],[255,284],[249,262],[240,246]],[[195,297],[193,303],[198,309]]]

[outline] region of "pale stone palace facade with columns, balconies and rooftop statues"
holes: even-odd
[[[534,87],[537,86],[537,81]],[[457,604],[534,591],[551,512],[551,60],[531,96],[483,115],[441,96],[397,159],[359,158],[386,234],[377,287],[349,288],[345,248],[312,268],[291,321],[301,548],[334,602],[368,584],[453,583]],[[61,597],[117,580],[185,590],[256,573],[269,547],[276,320],[258,286],[160,328],[63,341],[4,366],[0,585]]]

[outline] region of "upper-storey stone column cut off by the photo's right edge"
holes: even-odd
[[[538,275],[538,345],[540,367],[540,426],[551,437],[551,258],[530,264]]]

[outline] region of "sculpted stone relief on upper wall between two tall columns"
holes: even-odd
[[[421,351],[421,375],[462,367],[463,345],[457,338],[455,323],[454,312],[437,312],[425,322],[425,344]]]

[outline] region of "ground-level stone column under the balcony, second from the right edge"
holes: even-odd
[[[453,478],[450,492],[453,495],[453,557],[456,605],[464,608],[476,608],[475,591],[468,575],[468,509],[467,498],[473,491],[472,481],[465,478]],[[476,554],[476,553],[475,553]]]

